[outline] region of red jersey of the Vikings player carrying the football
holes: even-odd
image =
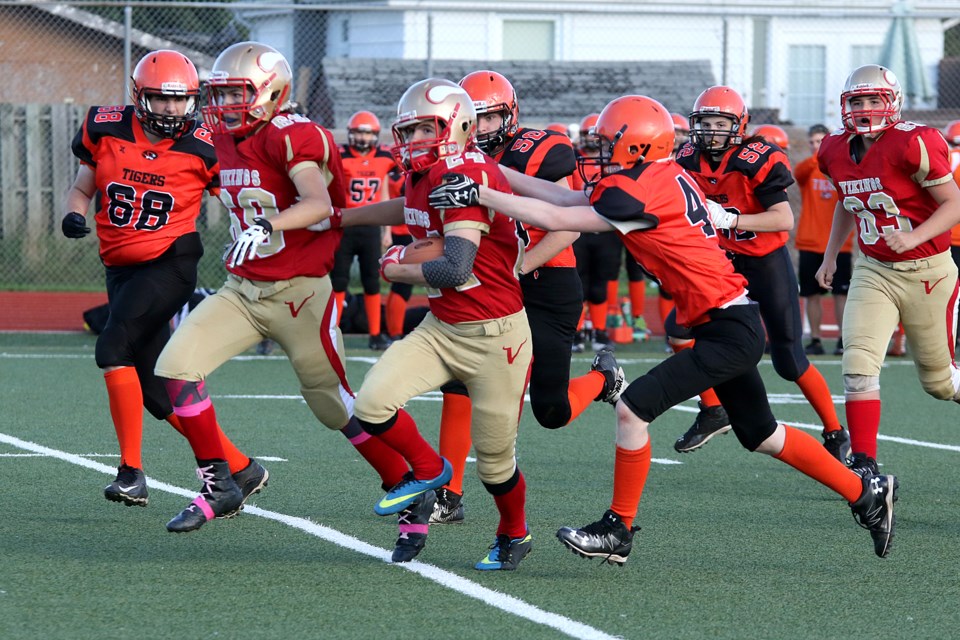
[[[408,173],[404,187],[403,217],[416,240],[442,237],[454,229],[479,229],[480,249],[473,272],[456,288],[427,288],[430,311],[440,320],[455,324],[502,318],[523,308],[517,269],[523,262],[523,242],[513,218],[487,207],[439,210],[428,203],[431,189],[451,171],[469,176],[479,184],[511,193],[510,184],[497,163],[479,151],[467,151],[441,160],[426,174]]]

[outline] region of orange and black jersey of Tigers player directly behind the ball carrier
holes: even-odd
[[[534,176],[550,182],[558,182],[577,171],[577,158],[573,152],[570,138],[555,131],[540,129],[517,130],[495,158],[505,167],[516,169],[520,173]],[[527,249],[536,245],[547,234],[543,229],[520,224],[527,236]],[[544,267],[575,267],[577,259],[573,247],[564,248],[560,253],[543,263]]]

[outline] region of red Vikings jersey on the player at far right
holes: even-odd
[[[859,163],[851,158],[857,136],[840,129],[823,139],[820,170],[833,180],[844,209],[857,216],[860,251],[884,262],[917,260],[943,253],[950,247],[950,232],[898,254],[887,246],[883,234],[910,231],[937,210],[936,200],[924,187],[943,184],[950,174],[947,142],[939,131],[913,122],[898,122],[870,146]]]

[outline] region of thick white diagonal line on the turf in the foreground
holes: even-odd
[[[58,460],[69,462],[70,464],[75,464],[80,467],[86,467],[87,469],[99,471],[107,474],[108,476],[113,476],[117,471],[116,467],[110,467],[99,462],[94,462],[93,460],[88,460],[81,456],[67,453],[66,451],[50,449],[49,447],[45,447],[35,442],[21,440],[20,438],[5,433],[0,433],[0,442],[23,449],[25,451],[31,451],[33,453],[49,456],[51,458],[57,458]],[[191,491],[189,489],[184,489],[172,484],[167,484],[166,482],[161,482],[153,477],[148,476],[148,479],[151,490],[165,491],[167,493],[183,496],[187,499],[196,496],[196,491]],[[376,558],[377,560],[381,560],[385,563],[389,563],[392,567],[404,569],[406,571],[410,571],[411,573],[417,573],[427,580],[431,580],[437,584],[447,587],[448,589],[457,591],[468,598],[479,600],[484,604],[490,605],[496,609],[500,609],[501,611],[510,615],[515,615],[519,618],[524,618],[525,620],[535,622],[545,627],[550,627],[551,629],[555,629],[556,631],[572,638],[616,640],[616,636],[611,636],[603,631],[600,631],[599,629],[594,629],[589,625],[583,624],[582,622],[571,620],[566,616],[545,611],[533,606],[532,604],[528,604],[519,598],[509,596],[505,593],[500,593],[499,591],[494,591],[493,589],[488,589],[487,587],[479,585],[472,580],[467,580],[466,578],[458,576],[455,573],[445,571],[432,564],[427,564],[417,560],[403,564],[393,564],[390,562],[390,551],[381,549],[380,547],[375,547],[364,542],[363,540],[359,540],[345,533],[341,533],[336,529],[331,529],[330,527],[325,527],[315,522],[311,522],[306,518],[289,516],[283,513],[277,513],[276,511],[260,509],[259,507],[254,506],[247,506],[244,509],[244,513],[266,518],[267,520],[275,520],[289,527],[293,527],[294,529],[300,529],[301,531],[309,533],[310,535],[320,538],[321,540],[332,542],[333,544],[344,547],[345,549],[356,551],[357,553],[361,553],[363,555]]]

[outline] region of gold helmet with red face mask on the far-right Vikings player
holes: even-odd
[[[879,96],[883,100],[881,109],[854,110],[850,101],[854,98]],[[847,76],[840,93],[840,118],[843,127],[850,133],[876,136],[900,121],[903,108],[903,90],[896,74],[878,64],[865,64]],[[880,118],[879,122],[874,122]]]

